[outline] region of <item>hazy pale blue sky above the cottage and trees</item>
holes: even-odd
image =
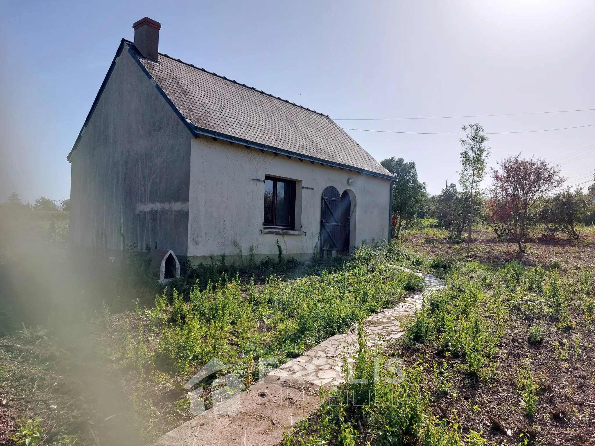
[[[456,133],[478,121],[490,133],[595,124],[595,111],[374,120],[595,108],[593,2],[0,5],[0,201],[12,191],[25,200],[69,196],[66,155],[121,37],[133,39],[132,23],[145,15],[162,24],[161,52],[329,114],[346,128]],[[431,193],[457,178],[456,135],[348,133],[378,160],[415,161]],[[489,144],[490,165],[518,152],[559,159],[568,184],[588,180],[595,167],[595,148],[588,148],[595,127],[493,134]]]

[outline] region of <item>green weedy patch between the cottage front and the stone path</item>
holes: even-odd
[[[156,362],[184,373],[214,357],[246,367],[264,356],[283,361],[422,286],[417,275],[387,266],[367,248],[334,274],[272,277],[258,289],[238,277],[204,288],[197,282],[187,299],[162,294],[149,312],[159,338]]]

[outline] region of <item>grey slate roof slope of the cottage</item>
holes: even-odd
[[[159,63],[135,54],[183,117],[198,127],[390,175],[327,115],[165,54],[159,53]]]

